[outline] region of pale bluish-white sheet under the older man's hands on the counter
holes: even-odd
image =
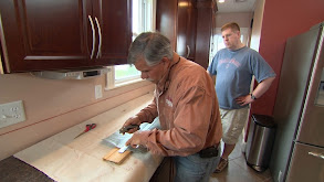
[[[154,128],[160,128],[160,125],[159,125],[159,119],[158,117],[154,119],[154,121],[151,124],[148,124],[148,122],[143,122],[140,126],[139,126],[139,130],[140,131],[145,131],[145,130],[151,130]],[[133,136],[133,133],[127,133],[125,132],[125,135],[122,135],[119,133],[119,131],[116,131],[114,133],[112,133],[109,137],[103,139],[103,143],[104,144],[107,144],[109,147],[117,147],[117,148],[122,148],[122,147],[125,147],[125,143],[128,139],[130,139]],[[132,150],[134,152],[145,152],[146,149],[144,148],[128,148],[127,150]]]

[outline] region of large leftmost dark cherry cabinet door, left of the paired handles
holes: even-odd
[[[88,66],[90,12],[86,0],[1,0],[4,72]]]

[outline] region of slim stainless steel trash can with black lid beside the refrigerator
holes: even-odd
[[[245,148],[249,167],[258,172],[268,169],[275,137],[273,118],[265,115],[252,115]]]

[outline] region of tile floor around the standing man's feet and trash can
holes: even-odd
[[[220,173],[213,173],[209,182],[273,182],[270,170],[257,172],[245,162],[242,137],[229,156],[229,165]],[[223,147],[223,143],[222,143]]]

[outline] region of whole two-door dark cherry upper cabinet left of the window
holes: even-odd
[[[127,63],[130,0],[1,0],[4,73]]]

